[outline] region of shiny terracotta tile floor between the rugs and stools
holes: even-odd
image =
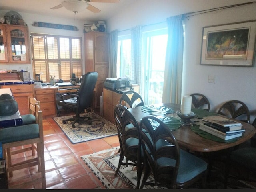
[[[118,136],[72,144],[52,118],[44,119],[43,125],[46,188],[104,189],[100,180],[80,156],[119,146]],[[14,155],[12,158],[13,161],[18,161],[19,158],[24,157]],[[9,188],[41,188],[41,186],[20,186],[24,180],[30,179],[35,170],[37,170],[36,166],[14,171],[13,177],[8,179]]]

